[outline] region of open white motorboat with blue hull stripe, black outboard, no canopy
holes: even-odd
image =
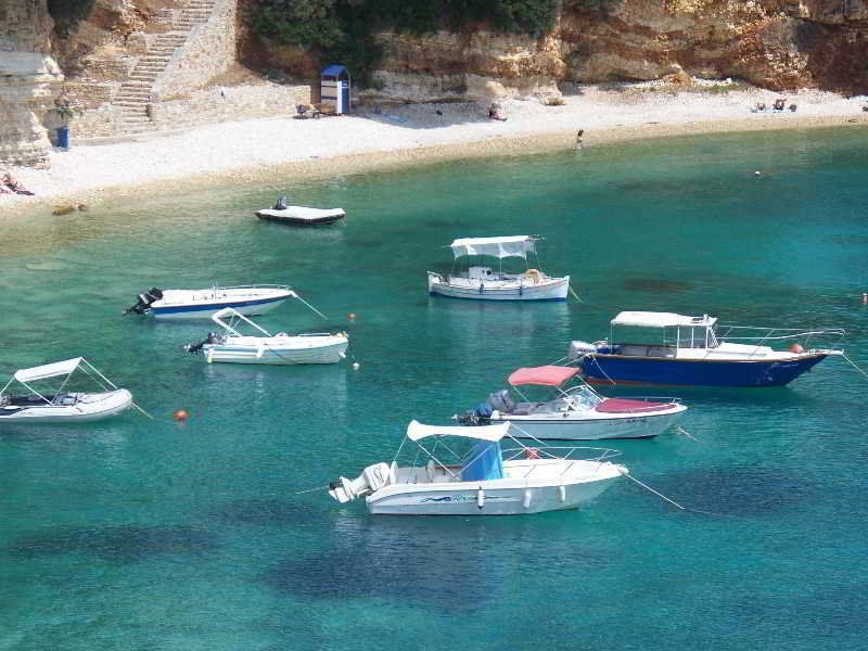
[[[161,290],[151,288],[139,294],[139,301],[124,314],[152,315],[170,319],[209,319],[215,312],[231,307],[243,315],[264,315],[280,303],[295,297],[288,285],[257,284],[204,290]]]

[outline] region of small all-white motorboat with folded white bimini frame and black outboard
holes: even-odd
[[[228,321],[226,320],[228,319]],[[197,344],[184,346],[190,353],[202,352],[208,363],[337,363],[346,357],[349,339],[345,332],[330,334],[271,334],[241,312],[227,307],[212,317],[226,334],[209,333]],[[245,335],[238,330],[242,323],[260,335]]]

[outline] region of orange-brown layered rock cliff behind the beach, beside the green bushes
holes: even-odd
[[[382,99],[548,94],[561,81],[685,73],[775,90],[868,92],[868,0],[564,0],[541,39],[480,30],[379,40],[379,88],[365,94]],[[316,76],[309,52],[259,46],[266,66]]]

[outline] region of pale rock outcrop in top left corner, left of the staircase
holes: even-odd
[[[0,2],[0,163],[48,165],[41,124],[63,80],[51,56],[46,0]]]

